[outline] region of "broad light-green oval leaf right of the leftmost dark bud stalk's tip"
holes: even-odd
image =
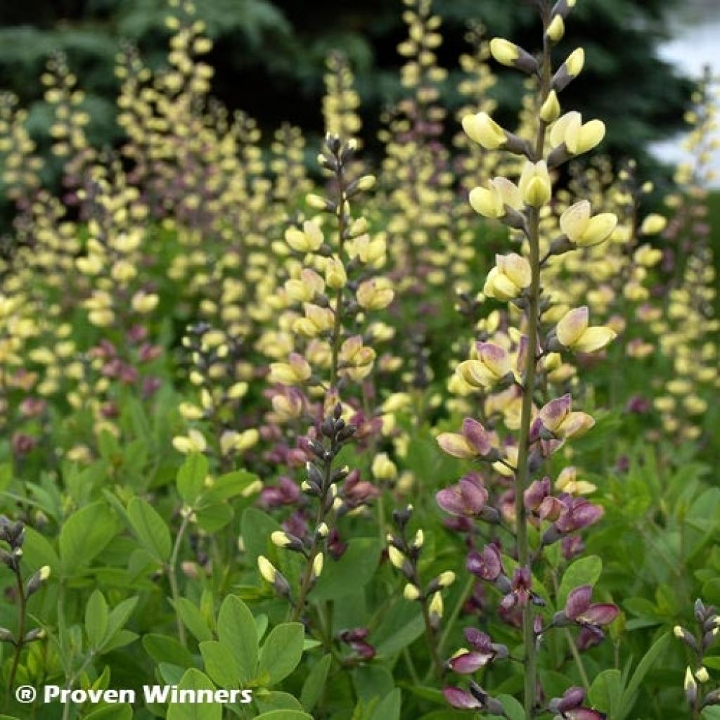
[[[92,503],[73,513],[60,528],[63,575],[72,575],[89,564],[116,532],[114,513],[104,503]]]

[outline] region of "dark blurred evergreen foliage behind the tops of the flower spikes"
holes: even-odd
[[[665,13],[673,0],[580,0],[573,17],[572,45],[587,51],[587,79],[568,91],[567,103],[593,117],[612,119],[605,149],[618,158],[647,161],[644,148],[678,130],[692,84],[657,59],[667,35]],[[450,71],[444,102],[459,102],[458,58],[470,20],[493,35],[523,37],[531,46],[534,17],[521,0],[436,0],[444,19],[441,62]],[[310,135],[323,130],[320,98],[325,56],[343,50],[353,63],[363,98],[367,138],[376,135],[382,107],[402,94],[396,46],[404,38],[400,0],[198,0],[215,48],[215,94],[228,107],[248,111],[262,127],[283,120]],[[30,107],[36,136],[48,125],[48,109],[37,82],[55,50],[68,55],[87,94],[94,143],[113,143],[114,55],[120,42],[138,45],[150,66],[163,62],[166,0],[24,0],[0,4],[0,88]],[[498,71],[502,73],[502,69]],[[517,111],[517,73],[495,90],[507,122]],[[570,96],[572,94],[572,96]],[[372,150],[372,144],[370,145]]]

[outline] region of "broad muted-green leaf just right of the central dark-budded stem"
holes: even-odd
[[[357,593],[372,579],[379,560],[377,539],[354,539],[341,559],[325,559],[323,575],[310,597],[312,600],[338,600]]]

